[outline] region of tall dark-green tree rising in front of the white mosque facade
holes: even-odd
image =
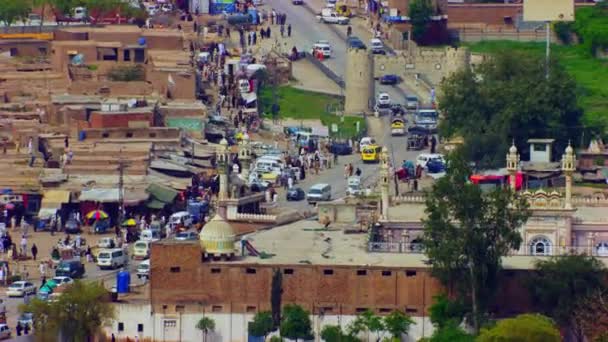
[[[448,156],[447,165],[446,176],[426,198],[423,245],[433,275],[470,301],[472,325],[479,331],[498,287],[502,257],[519,248],[518,228],[529,211],[509,189],[485,194],[469,182],[471,169],[460,151]]]

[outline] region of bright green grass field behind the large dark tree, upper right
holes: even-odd
[[[543,55],[545,53],[544,43],[486,41],[465,46],[478,53],[501,50],[520,50]],[[581,45],[553,44],[551,53],[579,85],[578,102],[585,111],[583,123],[586,126],[608,127],[608,60],[592,57],[586,47]]]

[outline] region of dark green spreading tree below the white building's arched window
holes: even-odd
[[[541,312],[582,338],[576,309],[590,296],[606,290],[606,268],[586,255],[564,255],[539,260],[529,285],[531,297]]]

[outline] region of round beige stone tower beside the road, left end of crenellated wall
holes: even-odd
[[[374,97],[373,55],[366,49],[348,48],[344,73],[345,114],[368,112]]]

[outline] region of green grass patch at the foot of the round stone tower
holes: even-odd
[[[338,96],[327,95],[300,90],[290,86],[277,88],[279,103],[279,117],[298,120],[321,120],[323,125],[331,127],[331,124],[338,124],[338,133],[330,133],[332,136],[340,138],[350,138],[357,136],[356,122],[359,122],[360,132],[365,131],[365,119],[362,117],[345,116],[341,122],[339,116],[329,113],[332,108],[342,106]],[[264,88],[260,94],[260,105],[262,111],[270,117],[272,105],[272,90]]]

